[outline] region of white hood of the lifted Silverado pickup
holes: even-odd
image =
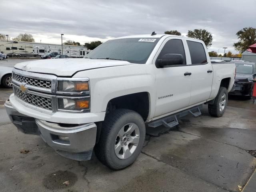
[[[29,72],[55,74],[57,76],[72,76],[74,73],[82,70],[123,65],[132,65],[132,63],[108,59],[67,58],[21,62],[16,64],[14,68]]]

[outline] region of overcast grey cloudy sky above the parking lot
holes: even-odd
[[[35,42],[61,44],[178,30],[206,29],[208,51],[236,53],[236,32],[256,28],[256,0],[1,0],[0,33],[32,34]]]

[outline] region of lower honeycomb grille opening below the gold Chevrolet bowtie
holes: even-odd
[[[34,94],[29,94],[29,93],[23,93],[18,88],[14,88],[14,90],[15,90],[16,96],[20,98],[22,101],[40,108],[52,110],[51,98],[46,98],[43,96],[38,96]]]

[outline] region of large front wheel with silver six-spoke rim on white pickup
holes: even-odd
[[[134,131],[129,132],[132,129]],[[94,148],[95,154],[110,169],[121,170],[136,160],[143,147],[145,135],[146,128],[140,114],[128,109],[114,110],[102,123],[100,140]]]

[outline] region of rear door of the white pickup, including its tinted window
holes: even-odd
[[[186,40],[191,58],[191,97],[189,105],[205,102],[212,92],[213,69],[207,59],[206,47],[200,41]]]

